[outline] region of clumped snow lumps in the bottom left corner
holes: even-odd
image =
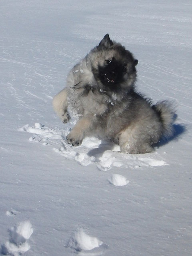
[[[3,255],[19,256],[30,249],[28,239],[33,233],[30,221],[22,221],[9,230],[10,239],[2,245]]]

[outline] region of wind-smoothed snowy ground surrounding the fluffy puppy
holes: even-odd
[[[191,13],[190,0],[0,1],[1,254],[192,255]],[[52,110],[106,33],[138,59],[138,90],[177,104],[152,154],[71,147]]]

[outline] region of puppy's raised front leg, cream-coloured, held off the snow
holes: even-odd
[[[63,123],[67,123],[70,119],[70,115],[67,112],[67,92],[68,88],[64,88],[62,91],[54,96],[52,101],[53,109]]]

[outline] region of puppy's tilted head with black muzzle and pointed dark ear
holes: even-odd
[[[108,34],[91,53],[94,77],[106,89],[119,90],[134,84],[138,60],[120,43],[112,41]]]

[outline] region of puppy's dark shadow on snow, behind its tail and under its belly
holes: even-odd
[[[173,135],[169,138],[162,138],[160,139],[160,141],[156,144],[154,144],[154,147],[162,147],[163,145],[166,145],[168,144],[170,141],[173,141],[173,140],[177,140],[179,139],[179,137],[186,132],[186,125],[184,124],[174,124],[173,125],[173,129],[174,129],[174,132],[173,132]],[[88,156],[94,156],[96,158],[100,158],[102,157],[102,155],[104,154],[104,152],[106,150],[111,150],[113,151],[114,149],[114,143],[111,142],[111,141],[102,141],[101,144],[99,145],[98,148],[94,148],[92,150],[90,150],[88,152]],[[120,152],[120,151],[115,151],[115,152]]]

